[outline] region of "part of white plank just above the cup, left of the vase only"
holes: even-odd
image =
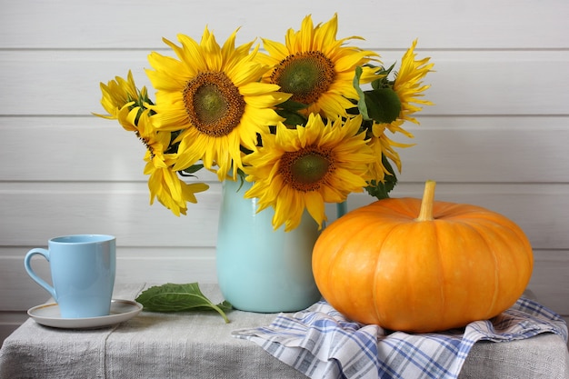
[[[198,194],[188,216],[149,205],[145,183],[7,184],[0,190],[1,243],[45,244],[61,234],[115,234],[130,246],[213,246],[220,188]]]

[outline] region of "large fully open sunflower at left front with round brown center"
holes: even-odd
[[[257,134],[282,118],[275,105],[290,97],[278,85],[259,83],[268,67],[255,62],[258,46],[253,42],[235,48],[236,31],[220,46],[205,28],[198,44],[178,35],[181,46],[164,39],[179,60],[153,52],[155,69],[147,70],[157,90],[154,125],[158,130],[180,131],[175,170],[198,160],[225,180],[233,169],[243,167],[242,147],[255,150]]]

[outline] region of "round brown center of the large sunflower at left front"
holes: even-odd
[[[184,89],[190,124],[205,135],[229,135],[245,113],[245,100],[224,73],[200,73]]]

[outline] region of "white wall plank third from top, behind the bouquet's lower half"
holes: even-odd
[[[95,116],[4,117],[0,123],[0,161],[18,157],[17,165],[0,165],[4,181],[147,180],[144,146],[115,121]],[[421,125],[405,127],[415,138],[389,135],[416,144],[397,149],[402,181],[569,182],[569,116],[427,116],[421,117]],[[198,180],[216,182],[216,176],[202,170]]]

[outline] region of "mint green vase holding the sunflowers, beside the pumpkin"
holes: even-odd
[[[291,232],[274,230],[273,208],[257,213],[257,199],[244,198],[250,183],[226,180],[222,188],[216,266],[225,300],[257,313],[295,312],[320,300],[312,273],[319,232],[310,215]]]

